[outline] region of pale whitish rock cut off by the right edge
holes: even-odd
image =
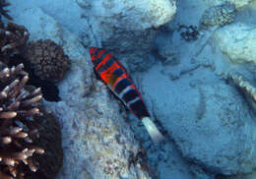
[[[217,30],[213,39],[234,64],[256,64],[256,27],[241,23]]]

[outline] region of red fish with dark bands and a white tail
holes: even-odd
[[[141,93],[136,89],[133,80],[119,60],[103,48],[91,47],[90,55],[96,74],[124,105],[142,120],[153,142],[158,144],[163,136],[150,119],[150,114]]]

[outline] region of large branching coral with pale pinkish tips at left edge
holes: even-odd
[[[23,64],[0,72],[0,178],[24,179],[26,168],[37,170],[32,156],[44,150],[33,145],[38,130],[32,116],[42,95],[24,89],[29,80]],[[28,167],[28,166],[29,167]]]

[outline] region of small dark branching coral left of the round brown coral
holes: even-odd
[[[29,31],[24,26],[8,23],[6,28],[0,29],[1,61],[7,62],[8,57],[21,53],[29,39]]]

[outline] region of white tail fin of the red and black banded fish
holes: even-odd
[[[142,123],[146,127],[148,133],[151,136],[152,141],[155,144],[159,144],[160,141],[163,140],[163,136],[160,134],[160,131],[158,130],[157,126],[154,124],[154,122],[149,117],[144,117],[142,119]]]

